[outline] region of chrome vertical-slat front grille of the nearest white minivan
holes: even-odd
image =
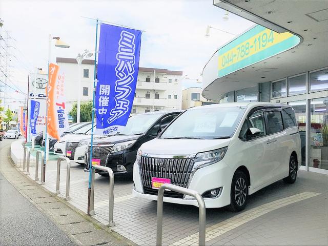
[[[141,156],[139,165],[144,191],[146,194],[153,195],[153,189],[149,190],[152,188],[153,177],[169,178],[173,185],[187,188],[193,169],[193,158],[174,159]]]

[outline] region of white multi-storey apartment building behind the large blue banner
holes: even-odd
[[[78,69],[75,58],[57,57],[57,64],[66,74],[65,97],[68,112],[77,100],[78,73],[81,72],[81,102],[92,101],[94,60],[85,59]],[[133,100],[132,114],[181,110],[182,71],[157,68],[141,68]]]

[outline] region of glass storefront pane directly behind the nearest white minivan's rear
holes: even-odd
[[[305,166],[306,100],[291,101],[288,104],[291,105],[295,111],[298,131],[299,131],[299,135],[301,136],[302,166]]]

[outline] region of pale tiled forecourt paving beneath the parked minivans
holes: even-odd
[[[87,212],[88,174],[71,162],[69,201]],[[34,167],[30,168],[34,178]],[[39,170],[40,172],[40,170]],[[66,167],[60,172],[60,197],[65,197]],[[46,168],[45,187],[55,193],[56,161]],[[108,224],[108,177],[95,176],[95,212],[98,221]],[[111,228],[140,245],[156,242],[157,202],[132,197],[132,180],[115,176],[114,221]],[[217,244],[327,244],[326,175],[299,171],[294,185],[282,181],[253,194],[240,213],[207,209],[207,245]],[[164,204],[163,244],[198,243],[198,208]]]

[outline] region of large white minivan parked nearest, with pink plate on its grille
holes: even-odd
[[[191,108],[143,144],[133,168],[133,195],[157,200],[162,183],[199,192],[206,208],[245,208],[248,195],[283,179],[294,183],[301,140],[292,107],[227,103]],[[164,201],[191,204],[165,191]]]

